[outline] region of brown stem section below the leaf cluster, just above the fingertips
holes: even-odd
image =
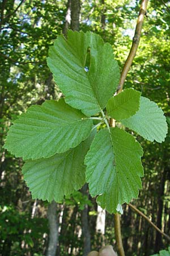
[[[116,246],[118,255],[125,256],[124,246],[121,237],[121,225],[120,225],[120,214],[114,214],[114,232],[116,236]]]

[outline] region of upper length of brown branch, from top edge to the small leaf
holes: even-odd
[[[145,14],[146,14],[147,3],[148,3],[148,0],[142,0],[141,7],[139,10],[139,16],[138,16],[138,20],[137,20],[137,26],[135,28],[133,43],[131,45],[129,56],[124,64],[124,68],[122,69],[120,84],[118,86],[118,93],[120,93],[123,89],[126,76],[128,75],[129,69],[131,67],[131,64],[133,62],[133,59],[136,55],[136,52],[137,52],[137,49],[139,46],[139,41],[141,38],[141,31],[142,31],[142,24],[143,24],[143,20],[144,20]]]

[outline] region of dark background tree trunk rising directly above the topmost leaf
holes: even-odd
[[[71,0],[71,30],[79,31],[80,1]]]

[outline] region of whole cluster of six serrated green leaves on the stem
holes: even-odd
[[[162,142],[167,134],[163,111],[132,88],[112,97],[120,71],[112,46],[99,35],[69,31],[67,39],[58,36],[47,63],[65,98],[20,115],[5,148],[25,160],[24,179],[34,199],[62,201],[88,182],[101,207],[121,212],[123,203],[138,197],[143,176],[142,147],[124,126]],[[109,118],[120,127],[109,127]],[[97,134],[93,120],[105,125]]]

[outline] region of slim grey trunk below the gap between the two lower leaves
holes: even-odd
[[[83,195],[88,195],[87,192],[88,185],[85,184],[81,191]],[[82,234],[83,234],[83,256],[87,256],[87,254],[91,251],[91,240],[90,240],[90,228],[88,224],[88,205],[84,205],[84,209],[81,212],[82,219]]]

